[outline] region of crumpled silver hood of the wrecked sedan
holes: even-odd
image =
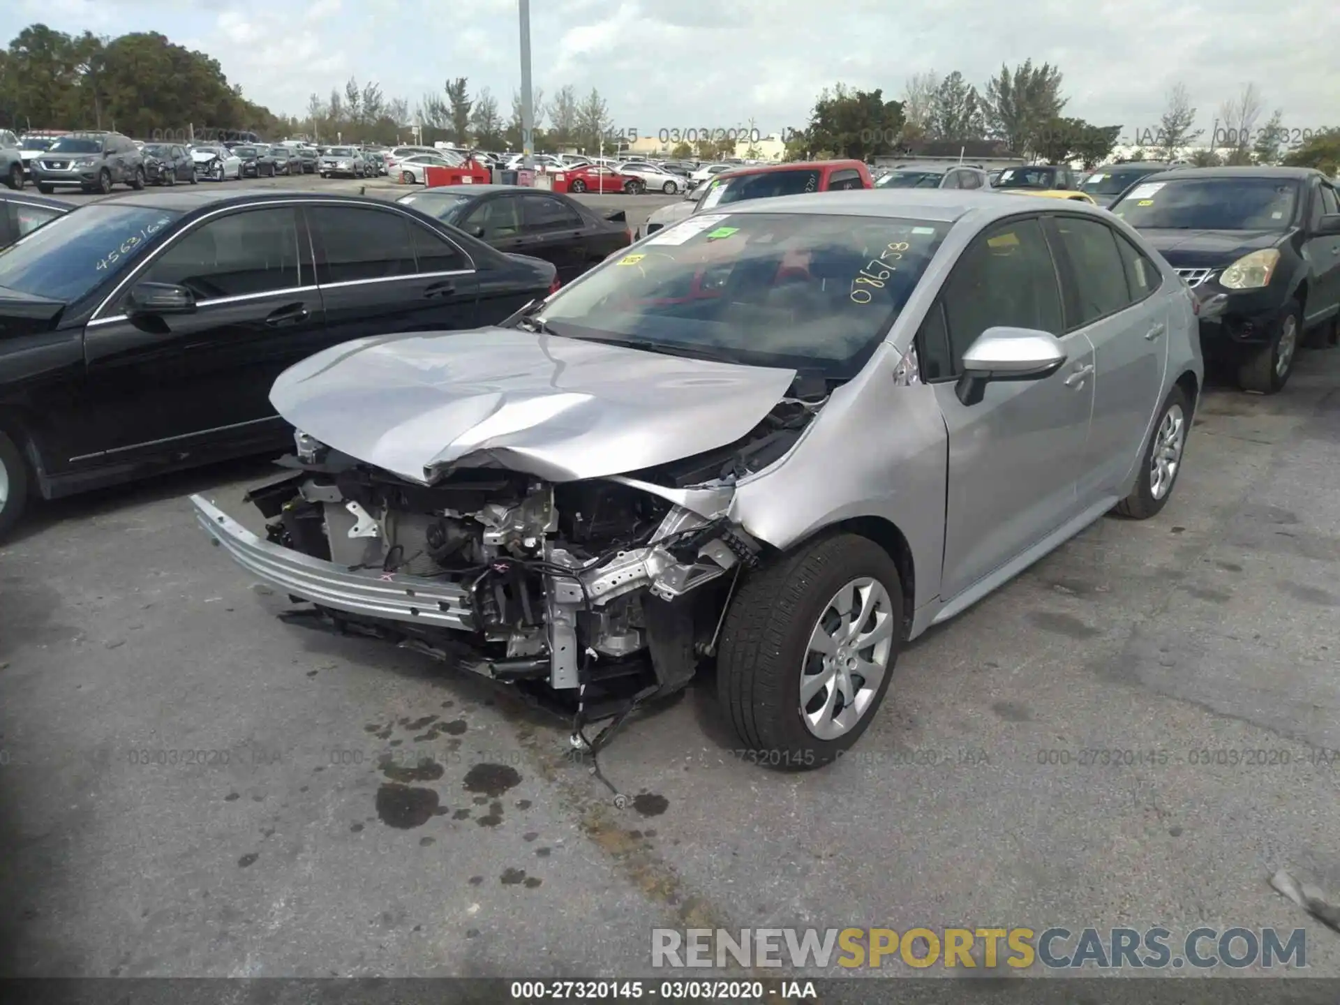
[[[795,378],[480,328],[346,342],[284,371],[269,399],[327,446],[419,484],[457,462],[575,481],[740,440]]]

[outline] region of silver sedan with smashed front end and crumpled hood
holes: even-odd
[[[793,196],[500,327],[299,363],[265,536],[193,501],[272,592],[557,701],[583,742],[714,665],[744,745],[803,769],[864,732],[909,639],[1104,513],[1158,513],[1201,382],[1189,289],[1101,210]]]

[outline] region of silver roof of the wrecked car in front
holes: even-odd
[[[1080,200],[1067,200],[1048,206],[1043,200],[1025,202],[1005,198],[997,192],[973,189],[850,189],[846,192],[815,192],[804,196],[746,200],[708,210],[714,213],[812,213],[815,216],[876,216],[891,220],[927,220],[951,224],[967,213],[977,213],[984,221],[1018,216],[1021,212],[1076,209],[1110,218],[1108,214]]]

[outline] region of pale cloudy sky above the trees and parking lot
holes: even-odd
[[[1156,126],[1182,80],[1206,129],[1253,82],[1266,115],[1340,126],[1340,4],[1298,0],[532,0],[536,87],[606,96],[615,129],[803,126],[836,80],[896,96],[915,72],[981,83],[1032,56],[1065,75],[1067,114]],[[252,100],[302,114],[354,76],[411,107],[448,76],[489,87],[503,114],[520,83],[516,0],[9,0],[5,40],[159,31],[214,56]],[[1265,117],[1260,125],[1264,125]]]

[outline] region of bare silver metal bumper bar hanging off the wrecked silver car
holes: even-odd
[[[456,583],[379,570],[355,570],[264,541],[204,496],[196,520],[239,565],[276,591],[368,618],[474,630],[469,592]]]

